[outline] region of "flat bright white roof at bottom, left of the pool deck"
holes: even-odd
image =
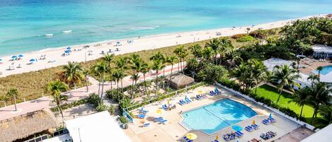
[[[130,142],[115,117],[110,117],[107,111],[71,119],[65,123],[74,142]]]

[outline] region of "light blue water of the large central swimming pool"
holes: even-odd
[[[251,108],[234,100],[224,99],[182,114],[182,124],[206,134],[224,129],[256,115]]]

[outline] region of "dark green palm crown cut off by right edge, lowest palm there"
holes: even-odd
[[[323,105],[319,109],[319,114],[321,114],[321,117],[317,117],[314,119],[314,124],[316,126],[315,129],[323,129],[325,126],[332,124],[332,106],[331,105]]]

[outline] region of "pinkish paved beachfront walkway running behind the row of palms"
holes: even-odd
[[[178,71],[178,65],[173,66],[173,72]],[[162,75],[163,71],[161,70],[159,73],[159,76]],[[166,66],[165,74],[171,73],[171,66]],[[151,80],[155,78],[156,73],[147,73],[146,79]],[[90,93],[98,93],[98,81],[96,81],[95,78],[89,77],[88,80],[91,82],[91,85],[88,86],[88,93],[86,92],[86,87],[78,88],[76,90],[69,90],[66,93],[63,93],[64,95],[68,95],[68,101],[67,102],[73,102],[74,100],[79,100],[81,98],[84,98],[88,96]],[[140,83],[143,81],[143,75],[139,78],[139,81],[137,83]],[[123,87],[126,87],[128,85],[132,84],[132,80],[130,79],[130,76],[126,76],[123,79]],[[113,83],[113,87],[115,87],[116,84]],[[105,83],[104,90],[110,89],[110,83]],[[7,107],[1,107],[0,108],[0,121],[4,119],[8,119],[11,117],[17,117],[21,114],[26,114],[28,112],[34,112],[36,110],[42,110],[43,108],[51,108],[55,107],[55,103],[52,102],[52,97],[40,97],[36,100],[30,100],[28,102],[21,102],[17,104],[18,111],[14,110],[14,105],[10,105]]]

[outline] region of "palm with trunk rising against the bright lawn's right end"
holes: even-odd
[[[290,100],[290,102],[295,102],[296,105],[299,105],[301,107],[301,112],[299,113],[299,117],[302,117],[302,111],[304,105],[309,104],[309,96],[310,96],[310,88],[305,87],[296,91],[294,93],[293,100]]]

